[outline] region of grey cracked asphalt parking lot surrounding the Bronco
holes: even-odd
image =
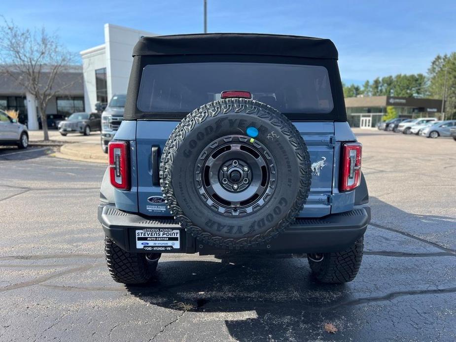
[[[178,254],[125,288],[96,217],[105,167],[0,148],[0,341],[455,341],[456,142],[355,133],[373,217],[344,285],[305,259]]]

